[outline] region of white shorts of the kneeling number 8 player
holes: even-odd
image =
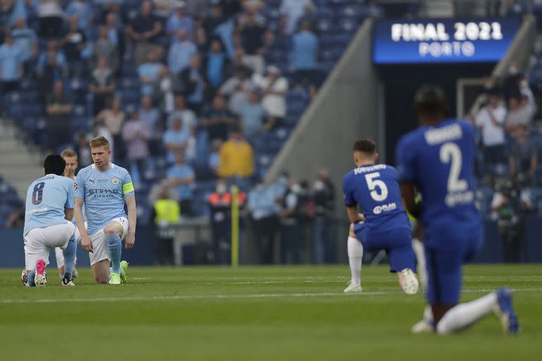
[[[25,268],[31,271],[38,259],[49,264],[49,251],[53,247],[66,248],[76,226],[71,221],[44,228],[34,228],[25,235]]]

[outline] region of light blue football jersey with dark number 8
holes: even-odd
[[[34,228],[45,228],[66,223],[64,210],[73,209],[73,181],[48,174],[32,182],[26,192],[26,235]]]

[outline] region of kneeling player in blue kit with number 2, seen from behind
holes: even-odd
[[[444,92],[434,85],[418,90],[414,113],[420,127],[399,140],[396,159],[406,208],[423,226],[430,307],[412,331],[450,334],[495,312],[505,331],[515,334],[519,326],[506,288],[458,304],[462,263],[481,246],[481,219],[474,206],[474,129],[466,121],[445,118]],[[418,203],[415,188],[421,192]]]

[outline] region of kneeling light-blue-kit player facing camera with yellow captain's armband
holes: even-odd
[[[81,169],[73,183],[76,224],[81,246],[89,252],[94,280],[116,285],[126,282],[128,277],[128,262],[121,262],[121,241],[124,240],[126,249],[131,249],[135,242],[137,211],[133,183],[126,169],[110,161],[111,149],[105,137],[92,138],[90,152],[94,164]],[[83,204],[88,231],[83,221]]]

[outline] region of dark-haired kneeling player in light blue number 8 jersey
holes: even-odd
[[[73,262],[76,258],[73,216],[73,181],[62,176],[66,162],[59,154],[45,158],[44,176],[37,178],[26,195],[25,271],[21,278],[25,286],[45,286],[45,267],[49,264],[49,250],[61,247],[65,267],[63,286],[72,282]]]

